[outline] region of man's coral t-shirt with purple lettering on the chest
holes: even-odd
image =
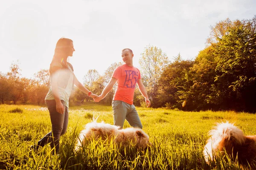
[[[141,79],[139,69],[126,64],[120,65],[115,69],[112,77],[117,79],[117,88],[113,100],[120,100],[132,105],[136,84],[138,79]]]

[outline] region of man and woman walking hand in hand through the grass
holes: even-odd
[[[67,58],[73,56],[74,51],[72,40],[67,38],[58,40],[49,68],[51,87],[45,98],[50,113],[52,131],[47,133],[37,144],[30,146],[32,149],[38,150],[39,147],[43,147],[50,142],[51,147],[55,147],[53,153],[56,154],[58,152],[60,136],[67,131],[69,97],[73,85],[76,85],[82,92],[92,97],[95,102],[99,102],[104,99],[117,82],[118,87],[112,102],[114,125],[122,128],[126,119],[132,127],[142,129],[139,115],[133,105],[136,84],[141,94],[145,97],[147,107],[150,106],[150,101],[142,83],[140,71],[133,66],[134,54],[132,50],[129,48],[122,50],[122,60],[125,64],[115,69],[111,80],[99,96],[85,88],[74,75],[73,66],[67,62]]]

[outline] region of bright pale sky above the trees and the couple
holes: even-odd
[[[100,74],[134,51],[134,66],[148,45],[169,59],[180,52],[195,59],[205,48],[209,26],[251,19],[256,0],[3,0],[0,3],[0,71],[19,60],[22,77],[48,69],[60,37],[73,40],[70,62],[83,82],[89,69]]]

